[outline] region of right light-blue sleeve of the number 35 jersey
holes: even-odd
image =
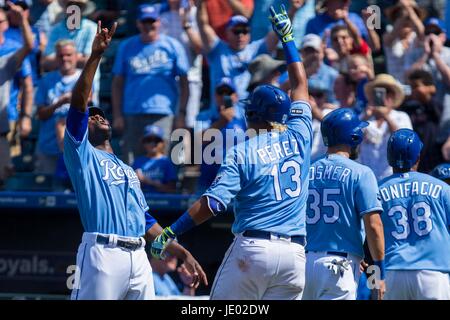
[[[362,216],[366,213],[378,211],[383,212],[378,199],[378,183],[372,171],[364,171],[356,184],[355,190],[356,210]]]

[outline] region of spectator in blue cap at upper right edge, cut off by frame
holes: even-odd
[[[444,23],[437,18],[429,18],[425,22],[424,43],[414,50],[410,61],[412,70],[422,69],[433,75],[435,98],[443,105],[441,131],[445,130],[445,124],[450,121],[450,48],[444,46],[446,40]],[[438,140],[442,139],[442,135],[438,137]]]

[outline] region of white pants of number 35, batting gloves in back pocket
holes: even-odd
[[[356,300],[361,258],[327,252],[306,254],[306,283],[303,300]]]

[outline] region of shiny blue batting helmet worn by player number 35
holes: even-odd
[[[344,144],[354,148],[362,142],[364,137],[362,129],[368,125],[367,122],[359,120],[353,110],[339,108],[327,114],[320,131],[326,146]]]

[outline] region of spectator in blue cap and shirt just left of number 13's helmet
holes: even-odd
[[[198,192],[206,190],[219,171],[222,160],[225,157],[227,148],[234,144],[241,142],[244,139],[246,130],[245,120],[237,116],[236,105],[238,103],[238,96],[236,86],[230,78],[222,78],[216,86],[215,104],[217,105],[217,112],[211,114],[210,110],[206,110],[203,115],[204,120],[199,123],[202,129],[204,139],[203,143],[203,158],[200,166],[201,176],[198,183]],[[199,120],[202,116],[199,116]],[[215,130],[212,131],[212,130]],[[219,130],[220,132],[217,132]],[[220,134],[220,138],[211,139],[206,136],[214,136]]]

